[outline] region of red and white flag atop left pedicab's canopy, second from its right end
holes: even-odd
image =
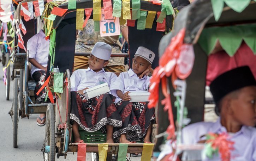
[[[29,21],[34,18],[33,2],[25,2],[20,6],[20,15],[24,17],[25,21]]]

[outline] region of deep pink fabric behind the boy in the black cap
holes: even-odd
[[[241,66],[249,66],[256,79],[256,55],[244,42],[233,57],[225,51],[211,54],[208,57],[206,85],[209,86],[220,74]]]

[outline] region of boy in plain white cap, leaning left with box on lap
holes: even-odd
[[[83,91],[107,82],[110,86],[117,78],[114,73],[105,72],[112,48],[104,42],[97,42],[89,57],[89,68],[76,70],[71,75],[71,113],[74,142],[83,143],[78,128],[88,132],[107,130],[107,143],[113,141],[113,126],[121,126],[121,117],[115,105],[113,95],[102,94],[87,100]]]

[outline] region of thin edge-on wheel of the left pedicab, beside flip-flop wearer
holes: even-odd
[[[18,147],[18,118],[19,118],[19,107],[18,107],[18,79],[14,79],[14,92],[13,92],[13,103],[12,103],[12,124],[13,124],[13,148]]]

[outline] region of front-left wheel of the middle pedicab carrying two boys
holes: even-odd
[[[43,143],[43,159],[44,161],[54,161],[56,153],[55,142],[55,114],[52,104],[48,104],[46,110],[46,127],[45,139]]]

